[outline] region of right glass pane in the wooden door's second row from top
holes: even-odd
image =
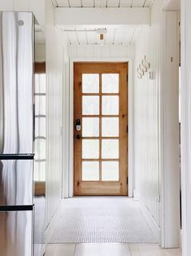
[[[102,96],[102,115],[119,115],[119,96]]]

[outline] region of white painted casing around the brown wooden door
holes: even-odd
[[[68,179],[63,180],[63,197],[73,196],[73,82],[74,82],[74,63],[75,62],[127,62],[128,63],[128,196],[133,196],[134,188],[134,173],[133,173],[133,159],[134,159],[134,146],[133,146],[133,84],[132,84],[132,59],[131,58],[102,58],[102,59],[88,59],[88,58],[74,58],[69,63],[69,86],[65,91],[65,99],[69,101],[69,109],[67,109],[67,121],[65,122],[66,129],[68,130],[68,143],[65,145],[68,149],[68,157],[64,159],[68,170],[65,170],[64,177]],[[66,148],[65,147],[65,148]],[[68,188],[67,190],[65,188]]]

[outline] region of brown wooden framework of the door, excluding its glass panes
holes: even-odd
[[[76,130],[74,127],[74,195],[102,195],[102,196],[127,196],[128,195],[128,63],[127,62],[75,62],[74,64],[74,124],[77,118],[83,121],[84,117],[97,117],[99,119],[99,132],[97,138],[94,136],[83,137],[82,130]],[[89,94],[83,93],[82,74],[83,73],[98,73],[98,93]],[[113,94],[102,92],[102,74],[103,73],[118,73],[119,75],[119,92]],[[99,107],[97,115],[83,115],[82,101],[84,95],[97,95]],[[102,113],[102,95],[117,95],[119,97],[119,113],[107,114]],[[104,96],[103,96],[104,97]],[[117,117],[119,120],[119,135],[104,136],[102,135],[102,117]],[[108,119],[107,119],[108,120]],[[82,124],[83,126],[83,124]],[[77,135],[81,135],[82,139],[76,139]],[[109,137],[109,138],[108,138]],[[97,139],[99,141],[99,155],[97,159],[88,159],[82,157],[83,139]],[[102,140],[103,139],[103,140]],[[117,139],[119,142],[119,157],[116,159],[106,159],[102,157],[102,143],[104,139]],[[85,141],[85,140],[84,140]],[[115,158],[115,157],[113,157]],[[83,163],[85,161],[96,161],[99,166],[98,180],[83,180]],[[118,180],[102,180],[102,163],[115,161],[119,164],[119,179]]]

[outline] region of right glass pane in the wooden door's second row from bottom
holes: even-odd
[[[119,139],[102,139],[102,158],[119,158]]]

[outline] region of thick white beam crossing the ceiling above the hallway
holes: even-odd
[[[70,26],[123,26],[150,25],[150,8],[67,8],[54,9],[55,25]]]

